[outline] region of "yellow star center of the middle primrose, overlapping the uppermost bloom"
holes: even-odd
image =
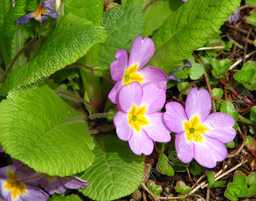
[[[149,125],[148,120],[144,116],[146,113],[146,106],[140,106],[137,108],[136,105],[132,106],[132,109],[128,112],[128,124],[137,132],[140,131],[140,126]]]

